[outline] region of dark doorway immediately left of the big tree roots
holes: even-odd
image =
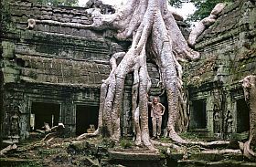
[[[99,107],[77,105],[76,107],[76,134],[80,135],[94,125],[95,130],[98,128]]]

